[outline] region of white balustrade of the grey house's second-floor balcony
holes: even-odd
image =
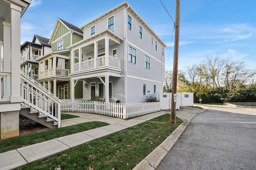
[[[121,69],[120,59],[118,59],[116,57],[112,57],[112,56],[109,56],[107,59],[109,60],[108,67]],[[101,56],[101,57],[97,57],[97,59],[96,59],[96,67],[94,66],[94,59],[83,61],[83,62],[80,63],[80,70],[79,70],[79,63],[75,63],[73,65],[73,71],[74,72],[86,71],[86,70],[92,70],[92,69],[95,69],[95,68],[104,67],[104,66],[106,66],[105,60],[106,60],[106,56],[105,55]]]

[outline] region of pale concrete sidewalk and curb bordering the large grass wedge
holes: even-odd
[[[200,107],[202,106],[200,105]],[[186,129],[188,123],[197,113],[203,111],[204,110],[202,109],[196,109],[194,107],[181,107],[181,109],[177,111],[177,117],[183,119],[184,122],[162,144],[134,167],[134,170],[154,170],[176,143],[184,129]],[[94,139],[138,125],[139,123],[148,121],[165,113],[170,113],[170,110],[159,111],[130,120],[123,120],[90,113],[67,112],[67,114],[78,115],[80,117],[62,120],[62,127],[89,121],[102,121],[110,125],[0,153],[0,170],[17,168],[27,163],[50,157],[58,152],[63,152],[64,150],[76,147]]]

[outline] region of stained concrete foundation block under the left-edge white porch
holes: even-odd
[[[19,111],[0,113],[0,139],[19,136]]]

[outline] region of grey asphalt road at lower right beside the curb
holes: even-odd
[[[256,109],[211,106],[199,113],[158,168],[215,169],[256,169]]]

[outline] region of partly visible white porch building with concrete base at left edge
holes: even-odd
[[[0,139],[19,135],[20,17],[31,0],[0,0]]]

